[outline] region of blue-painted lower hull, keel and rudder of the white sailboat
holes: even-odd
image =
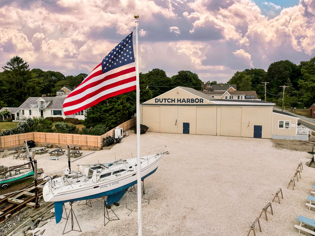
[[[152,175],[156,170],[157,170],[157,168],[155,168],[149,174],[147,174],[144,177],[142,177],[141,180],[144,180],[146,177]],[[131,182],[129,184],[126,184],[126,185],[121,186],[119,188],[112,189],[110,191],[106,191],[106,192],[102,192],[102,193],[98,193],[98,194],[93,194],[93,195],[82,197],[82,198],[75,198],[75,199],[70,199],[70,200],[66,200],[66,201],[54,202],[56,223],[59,223],[60,220],[61,220],[61,217],[62,217],[62,206],[63,206],[64,203],[72,202],[72,201],[81,201],[81,200],[87,200],[87,199],[94,199],[94,198],[100,198],[100,197],[103,197],[103,196],[107,196],[106,202],[107,202],[108,205],[111,205],[111,204],[119,201],[123,197],[123,195],[125,194],[127,189],[129,187],[135,185],[136,183],[137,183],[137,181],[135,180],[135,181],[133,181],[133,182]]]

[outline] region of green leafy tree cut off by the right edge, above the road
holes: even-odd
[[[315,101],[315,57],[301,62],[301,74],[303,79],[299,80],[299,85],[304,93],[302,99],[305,105],[310,106]]]

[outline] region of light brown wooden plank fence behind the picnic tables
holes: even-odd
[[[119,125],[123,128],[123,131],[133,127],[136,123],[136,118],[132,118]],[[24,145],[24,140],[34,140],[35,143],[53,143],[60,145],[80,145],[88,147],[101,148],[103,146],[103,138],[107,136],[115,135],[115,128],[106,132],[101,136],[96,135],[81,135],[81,134],[71,134],[71,133],[44,133],[44,132],[30,132],[13,134],[7,136],[0,136],[0,149],[22,146]]]

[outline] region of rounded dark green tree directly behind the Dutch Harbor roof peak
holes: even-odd
[[[202,86],[202,81],[199,79],[198,75],[189,70],[180,70],[177,75],[174,75],[171,78],[174,87],[183,86],[200,90]]]

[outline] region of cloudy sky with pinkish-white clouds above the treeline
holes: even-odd
[[[226,82],[315,54],[315,0],[1,0],[0,65],[19,55],[31,68],[89,74],[134,29],[135,13],[142,72]]]

